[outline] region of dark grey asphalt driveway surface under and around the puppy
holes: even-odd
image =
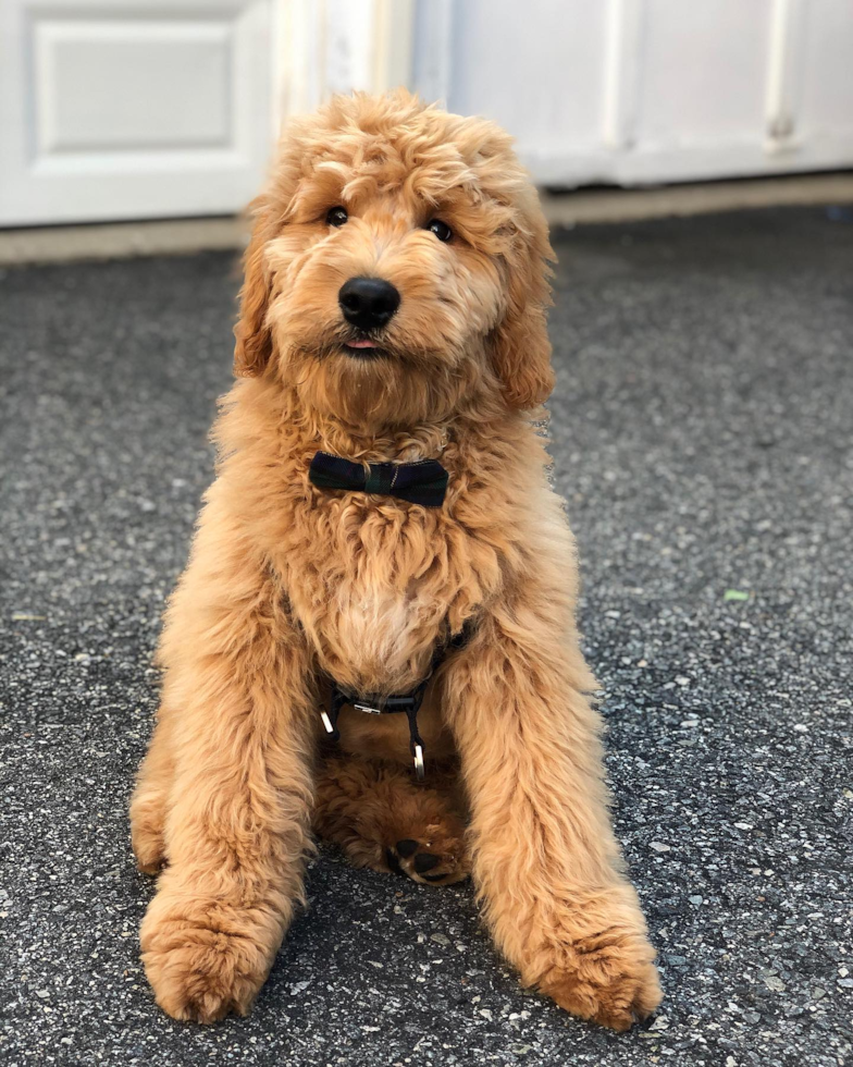
[[[517,986],[470,887],[325,850],[249,1019],[158,1010],[126,808],[211,477],[236,271],[27,268],[0,274],[7,1067],[851,1062],[853,217],[557,247],[555,477],[660,1013],[626,1035],[573,1020]]]

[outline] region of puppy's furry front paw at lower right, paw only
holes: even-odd
[[[572,1015],[628,1030],[660,1004],[654,957],[643,934],[611,928],[574,941],[566,962],[539,988]]]

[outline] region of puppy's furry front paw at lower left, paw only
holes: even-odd
[[[174,1019],[195,1022],[247,1015],[272,961],[262,931],[215,906],[194,909],[193,918],[152,911],[140,941],[160,1007]]]

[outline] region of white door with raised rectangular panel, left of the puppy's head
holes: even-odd
[[[219,214],[273,138],[272,0],[0,0],[0,225]]]

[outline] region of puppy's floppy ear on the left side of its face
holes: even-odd
[[[270,304],[270,277],[264,260],[270,238],[269,208],[262,197],[252,201],[255,228],[243,257],[244,282],[240,290],[240,310],[234,335],[234,373],[238,378],[256,378],[263,372],[272,354],[272,334],[267,326]]]

